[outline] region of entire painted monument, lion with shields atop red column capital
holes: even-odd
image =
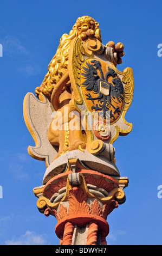
[[[57,219],[61,245],[106,245],[107,216],[125,202],[128,178],[115,165],[113,143],[128,135],[125,114],[133,99],[133,71],[116,68],[124,45],[102,44],[99,23],[79,17],[63,34],[48,73],[24,97],[25,124],[46,163],[34,188],[37,208]]]

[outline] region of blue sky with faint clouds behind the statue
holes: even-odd
[[[33,188],[46,166],[27,152],[34,141],[23,120],[23,99],[47,73],[63,33],[77,17],[99,22],[103,44],[125,45],[134,97],[126,114],[133,130],[114,143],[116,165],[128,176],[126,202],[108,216],[108,245],[161,245],[161,1],[4,1],[0,3],[1,148],[0,245],[59,245],[56,220],[37,210]],[[161,193],[162,194],[162,193]]]

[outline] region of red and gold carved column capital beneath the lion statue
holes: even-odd
[[[74,242],[77,241],[74,237],[76,227],[87,227],[84,244],[106,245],[109,233],[107,216],[118,208],[118,204],[125,202],[121,188],[127,183],[126,178],[112,178],[93,170],[77,169],[76,172],[69,170],[55,176],[40,191],[35,188],[34,193],[39,197],[38,210],[46,216],[56,217],[55,232],[61,245],[77,244]]]

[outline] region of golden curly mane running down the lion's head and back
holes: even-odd
[[[55,85],[68,71],[68,57],[71,42],[76,36],[82,40],[86,39],[84,34],[85,32],[81,33],[81,26],[86,26],[87,24],[89,25],[91,31],[94,32],[96,38],[101,41],[99,23],[89,16],[79,17],[69,35],[63,34],[61,36],[60,45],[57,48],[56,54],[48,65],[48,72],[44,77],[41,86],[35,89],[37,97],[39,97],[40,93],[42,92],[50,100],[50,96]]]

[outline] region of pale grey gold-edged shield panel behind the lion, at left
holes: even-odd
[[[25,124],[35,142],[35,147],[28,147],[28,153],[34,159],[44,160],[48,167],[57,154],[47,137],[54,108],[43,94],[42,100],[38,100],[33,93],[27,93],[23,102],[23,114]]]

